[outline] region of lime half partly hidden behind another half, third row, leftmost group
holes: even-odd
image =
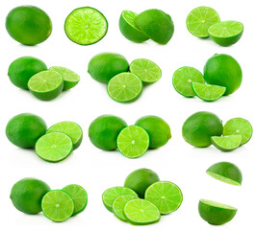
[[[64,132],[73,142],[73,149],[76,150],[82,143],[83,130],[74,122],[60,122],[49,127],[46,133]]]

